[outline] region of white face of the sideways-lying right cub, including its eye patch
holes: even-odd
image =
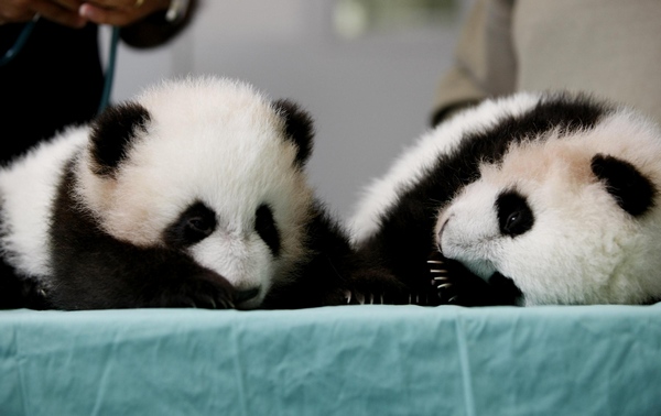
[[[602,150],[610,143],[598,133],[549,143],[541,154],[524,145],[502,165],[483,166],[481,178],[438,214],[435,236],[443,254],[485,280],[496,272],[511,278],[525,305],[661,296],[661,210],[635,217],[607,191],[590,169],[593,139],[602,140],[595,142]],[[611,154],[631,156],[633,147]],[[635,160],[653,166],[659,149],[638,146],[635,152],[649,163]],[[658,172],[646,174],[654,178]]]

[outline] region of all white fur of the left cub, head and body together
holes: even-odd
[[[217,214],[217,227],[189,254],[238,289],[259,287],[241,305],[257,306],[273,280],[308,255],[303,232],[312,190],[294,167],[297,147],[282,138],[282,118],[251,86],[213,77],[163,81],[136,101],[150,113],[149,133],[137,129],[141,136],[115,177],[93,173],[85,129],[0,174],[11,228],[3,249],[17,253],[19,269],[47,275],[50,204],[64,162],[79,150],[76,198],[104,230],[139,247],[162,245],[163,230],[199,200]],[[254,230],[261,204],[280,230],[278,258]]]

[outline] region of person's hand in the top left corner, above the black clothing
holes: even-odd
[[[131,0],[128,0],[131,1]],[[0,0],[0,24],[28,22],[39,14],[69,28],[83,28],[87,19],[78,13],[83,0]]]

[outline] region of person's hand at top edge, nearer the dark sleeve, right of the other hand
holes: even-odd
[[[169,7],[170,0],[89,0],[83,2],[79,14],[97,24],[126,26]]]

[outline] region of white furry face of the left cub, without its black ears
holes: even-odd
[[[240,307],[258,306],[275,276],[306,254],[301,233],[312,194],[282,119],[249,87],[218,80],[138,101],[150,112],[149,135],[115,179],[85,169],[84,198],[106,231],[141,247],[163,245],[173,225],[202,218],[203,236],[182,250],[237,289],[258,289]]]

